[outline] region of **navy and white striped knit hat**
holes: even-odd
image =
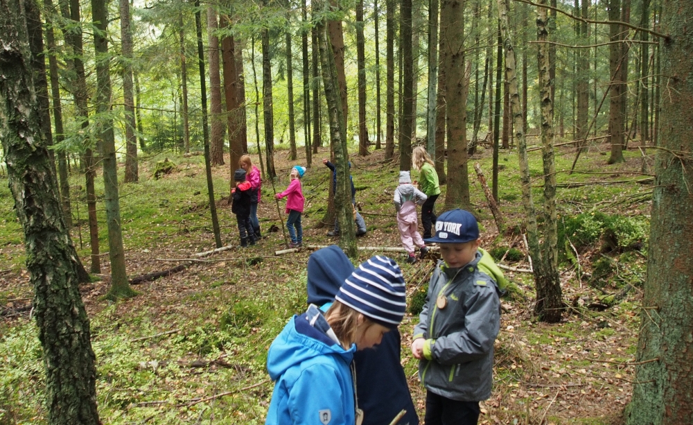
[[[407,307],[402,271],[393,259],[375,255],[347,277],[335,299],[378,324],[397,327]]]

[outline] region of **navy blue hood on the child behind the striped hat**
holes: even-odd
[[[323,306],[335,300],[344,280],[353,272],[353,264],[342,248],[330,245],[308,257],[308,304]]]

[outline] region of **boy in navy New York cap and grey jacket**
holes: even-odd
[[[500,268],[479,248],[476,218],[462,209],[435,223],[442,260],[428,284],[412,354],[426,386],[426,425],[476,424],[491,397],[493,343],[500,327]]]

